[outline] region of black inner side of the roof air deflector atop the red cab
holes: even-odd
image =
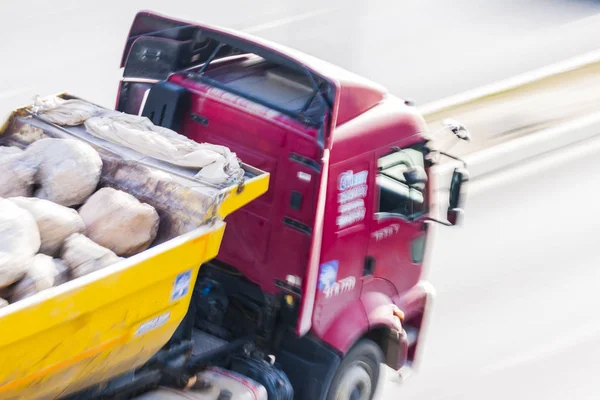
[[[282,104],[261,101],[247,91],[238,90],[227,82],[220,82],[203,73],[214,61],[242,54],[256,55],[267,63],[286,70],[287,73],[304,77],[313,93],[307,96],[305,104],[301,107],[287,109]],[[190,75],[199,81],[314,126],[321,126],[327,120],[325,116],[332,112],[335,99],[335,86],[332,82],[290,56],[233,33],[176,21],[149,12],[136,15],[121,66],[124,67],[124,77],[135,79],[166,80],[173,73],[189,70]],[[312,116],[311,107],[316,108],[317,118]]]

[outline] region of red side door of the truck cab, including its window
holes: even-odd
[[[421,274],[428,214],[428,182],[407,182],[405,171],[426,171],[425,145],[386,146],[375,152],[373,213],[363,290],[393,296],[415,285]],[[394,293],[395,292],[395,293]]]

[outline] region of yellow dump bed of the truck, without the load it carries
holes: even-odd
[[[3,127],[0,145],[7,140],[26,145],[40,135],[87,140],[81,129],[53,125],[21,109]],[[170,232],[150,249],[0,309],[0,399],[57,398],[148,361],[185,316],[200,265],[217,255],[222,218],[268,188],[269,175],[247,165],[243,185],[210,187],[160,163],[111,158],[114,149],[106,143],[91,144],[114,170],[107,182],[117,187],[117,177],[131,168],[142,176],[144,171],[168,174],[179,190],[162,199],[157,194],[153,205],[163,207],[161,224],[173,217],[164,207],[179,203],[179,215],[165,224]],[[134,195],[152,201],[153,187],[138,187]]]

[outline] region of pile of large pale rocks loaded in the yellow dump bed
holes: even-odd
[[[0,170],[0,305],[105,268],[156,238],[156,210],[99,188],[102,159],[85,142],[0,147]]]

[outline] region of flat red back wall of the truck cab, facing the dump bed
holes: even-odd
[[[266,292],[277,292],[275,281],[285,281],[288,275],[304,278],[311,236],[284,219],[314,229],[320,172],[290,157],[294,153],[319,164],[315,129],[183,75],[174,75],[171,81],[191,91],[191,112],[208,120],[203,125],[189,116],[184,135],[228,146],[242,160],[271,173],[269,191],[227,219],[219,260],[238,268]],[[299,210],[290,203],[293,191],[302,194]]]

